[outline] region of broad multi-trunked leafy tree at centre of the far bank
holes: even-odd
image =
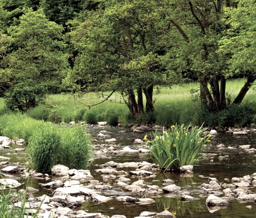
[[[120,91],[133,115],[154,111],[153,86],[159,73],[157,18],[152,1],[102,0],[99,10],[71,33],[79,51],[71,77],[88,88]],[[137,100],[136,95],[137,94]]]

